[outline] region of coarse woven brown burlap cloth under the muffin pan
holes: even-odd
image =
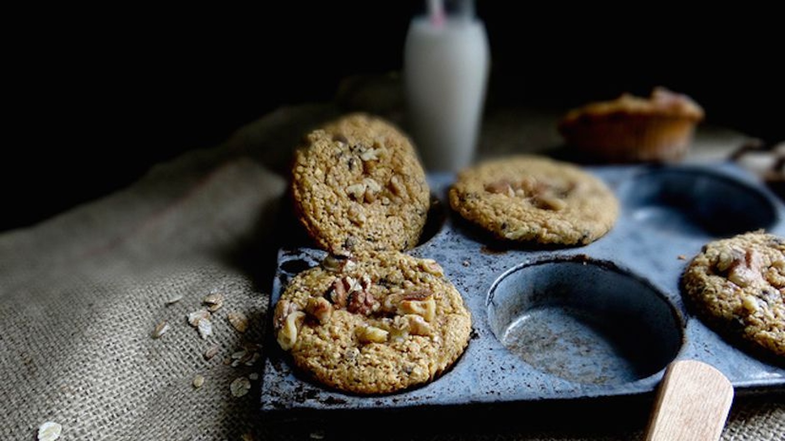
[[[216,148],[153,167],[129,188],[0,235],[0,439],[35,439],[44,421],[60,423],[67,440],[640,439],[648,398],[285,424],[260,416],[258,380],[246,395],[232,395],[232,381],[261,366],[248,357],[232,366],[239,358],[232,354],[262,343],[276,240],[287,234],[276,219],[290,148],[338,111],[281,108]],[[480,155],[553,145],[552,116],[489,114]],[[704,135],[698,146],[743,140]],[[204,340],[185,317],[211,292],[225,301]],[[174,297],[181,300],[166,303]],[[248,317],[246,332],[228,323],[230,312]],[[152,338],[162,320],[170,329]],[[212,345],[219,352],[207,360]],[[192,385],[197,374],[201,388]],[[723,439],[783,433],[782,396],[737,396]]]

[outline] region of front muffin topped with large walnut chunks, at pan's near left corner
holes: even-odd
[[[440,265],[396,251],[328,257],[301,272],[276,304],[273,323],[296,366],[358,394],[433,381],[471,333],[469,311]]]

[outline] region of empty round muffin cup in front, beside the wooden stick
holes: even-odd
[[[651,283],[582,255],[510,269],[491,286],[487,317],[524,362],[582,384],[657,374],[684,340],[681,315]]]

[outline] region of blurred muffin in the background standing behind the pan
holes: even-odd
[[[703,108],[692,98],[658,86],[648,98],[623,93],[615,100],[573,108],[557,129],[570,148],[588,159],[677,162],[703,118]]]

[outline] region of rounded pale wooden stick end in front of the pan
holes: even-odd
[[[717,441],[733,401],[719,370],[697,360],[670,363],[660,383],[646,441]]]

